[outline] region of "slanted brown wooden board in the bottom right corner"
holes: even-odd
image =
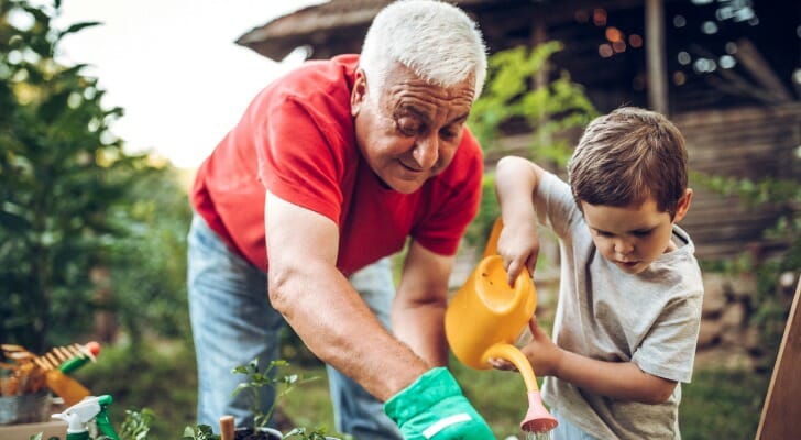
[[[784,336],[776,358],[773,375],[765,397],[762,416],[759,419],[756,440],[797,439],[801,432],[801,279],[795,288],[795,298],[787,317]]]

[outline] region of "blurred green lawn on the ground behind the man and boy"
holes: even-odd
[[[327,427],[333,431],[333,415],[328,398],[328,383],[322,364],[290,360],[290,370],[305,377],[319,380],[300,385],[286,395],[279,410],[294,426]],[[525,416],[525,385],[517,373],[475,371],[451,364],[454,376],[480,414],[492,426],[498,439],[519,435],[518,424]],[[191,345],[160,342],[154,346],[132,350],[124,344],[103,349],[96,365],[85,366],[77,378],[96,394],[110,394],[114,426],[125,410],[150,408],[156,419],[149,439],[179,439],[183,429],[193,425],[196,410],[195,358]],[[684,385],[680,407],[682,438],[753,439],[769,373],[745,371],[698,371],[693,382]]]

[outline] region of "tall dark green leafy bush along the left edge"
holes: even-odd
[[[2,328],[41,350],[51,328],[85,330],[76,318],[91,307],[89,270],[121,233],[107,219],[141,158],[121,154],[108,131],[122,110],[102,108],[83,66],[53,59],[68,32],[25,2],[0,8]],[[33,20],[28,29],[9,20],[23,15]]]

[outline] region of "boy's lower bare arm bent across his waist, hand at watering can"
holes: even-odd
[[[663,403],[676,388],[674,381],[648,374],[633,362],[599,361],[562,350],[535,319],[530,328],[534,339],[522,351],[539,376],[555,376],[593,394],[649,405]]]

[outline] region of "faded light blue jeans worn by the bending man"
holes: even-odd
[[[189,229],[187,271],[198,365],[198,424],[216,428],[221,416],[232,415],[238,427],[252,425],[251,395],[231,397],[245,377],[231,370],[256,358],[259,365],[266,366],[279,356],[279,332],[285,321],[270,305],[267,276],[231,252],[197,213]],[[350,280],[388,329],[395,295],[388,258],[353,274]],[[339,432],[358,440],[402,439],[381,402],[330,365],[327,371]],[[265,413],[275,396],[272,392],[262,394],[260,406]]]

